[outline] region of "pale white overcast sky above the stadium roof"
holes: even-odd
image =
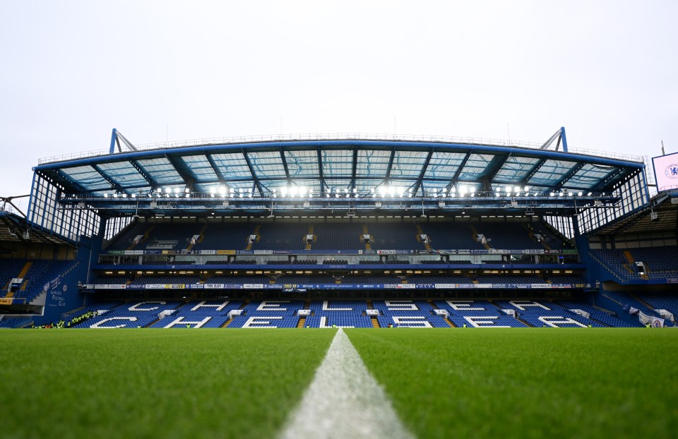
[[[676,1],[0,1],[0,196],[114,127],[142,144],[281,117],[532,142],[565,126],[573,148],[676,152],[676,17]]]

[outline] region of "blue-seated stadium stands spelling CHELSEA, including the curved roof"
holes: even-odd
[[[33,171],[27,215],[0,212],[1,327],[93,310],[75,327],[632,327],[629,308],[661,325],[678,313],[678,193],[650,198],[643,157],[577,152],[564,128],[542,145],[169,148],[114,130],[109,150]]]

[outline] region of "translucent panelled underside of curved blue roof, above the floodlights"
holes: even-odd
[[[411,189],[414,196],[456,184],[478,191],[507,185],[609,191],[643,167],[642,162],[572,152],[435,141],[284,140],[120,150],[34,170],[68,193],[131,196],[158,188],[210,193],[225,184],[267,197],[284,186],[303,186],[316,194],[355,188],[367,195],[389,183]]]

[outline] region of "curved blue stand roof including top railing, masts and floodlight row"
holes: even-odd
[[[639,157],[571,152],[564,128],[542,145],[410,136],[207,139],[136,148],[118,131],[108,152],[41,160],[35,173],[63,198],[609,196],[643,172]],[[373,138],[369,138],[373,137]],[[390,138],[388,138],[390,137]],[[503,144],[502,144],[503,143]]]

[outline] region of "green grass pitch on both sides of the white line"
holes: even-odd
[[[671,328],[344,332],[418,438],[668,438],[678,431],[678,332]],[[275,437],[336,333],[1,331],[0,436]]]

